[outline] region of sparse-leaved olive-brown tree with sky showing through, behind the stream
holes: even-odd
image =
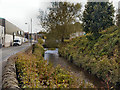
[[[42,26],[47,27],[48,32],[52,32],[56,39],[63,42],[66,37],[75,32],[70,26],[76,22],[76,18],[80,18],[80,13],[80,3],[52,2],[47,17],[42,20]]]

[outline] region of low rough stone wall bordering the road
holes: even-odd
[[[31,51],[32,47],[29,47],[21,52],[27,52]],[[16,55],[13,55],[8,58],[6,66],[3,69],[2,72],[2,89],[14,89],[14,90],[20,90],[20,87],[18,86],[18,80],[16,75],[16,67],[15,67],[15,59]]]

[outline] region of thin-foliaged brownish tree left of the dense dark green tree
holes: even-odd
[[[78,20],[81,19],[81,7],[80,3],[56,1],[51,2],[51,7],[48,7],[48,13],[42,10],[39,11],[38,19],[42,27],[49,32],[47,37],[51,41],[54,38],[51,43],[54,44],[56,40],[63,42],[72,33],[81,31],[79,27],[82,27],[82,25],[76,20],[76,18]]]

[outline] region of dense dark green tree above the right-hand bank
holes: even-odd
[[[112,3],[87,2],[83,13],[83,30],[98,35],[101,30],[114,25],[114,12]]]

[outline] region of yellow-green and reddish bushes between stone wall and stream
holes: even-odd
[[[59,65],[53,68],[44,60],[42,41],[35,45],[33,54],[18,54],[16,60],[17,77],[21,88],[93,88],[91,83],[76,82],[70,72]],[[41,43],[41,44],[40,44]]]

